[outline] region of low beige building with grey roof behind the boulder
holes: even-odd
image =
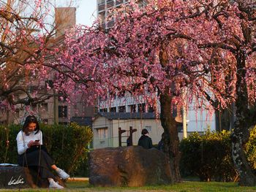
[[[93,123],[94,148],[118,147],[118,128],[125,131],[121,134],[121,146],[127,146],[130,127],[137,130],[132,134],[133,145],[138,144],[143,128],[148,130],[154,145],[157,145],[163,132],[154,112],[99,112]]]

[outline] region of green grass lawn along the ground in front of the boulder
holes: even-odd
[[[1,190],[0,191],[10,191]],[[18,190],[13,190],[18,191]],[[23,189],[20,191],[49,191],[49,189]],[[57,190],[50,190],[57,191]],[[240,187],[237,183],[221,183],[221,182],[184,182],[175,185],[152,185],[140,188],[94,188],[87,182],[68,182],[67,188],[62,191],[177,191],[177,192],[197,192],[197,191],[239,191],[239,192],[249,192],[256,191],[255,187]]]

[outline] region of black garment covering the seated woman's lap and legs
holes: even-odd
[[[40,161],[40,162],[39,162]],[[39,176],[43,179],[54,178],[51,172],[51,166],[54,164],[52,158],[45,150],[34,150],[18,156],[18,164],[20,166],[28,166],[34,169],[39,168]]]

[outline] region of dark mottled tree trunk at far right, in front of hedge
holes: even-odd
[[[249,106],[248,94],[246,88],[246,70],[245,70],[245,55],[238,53],[237,61],[237,82],[236,82],[236,121],[234,125],[232,139],[232,157],[236,169],[239,173],[239,185],[254,186],[256,185],[256,177],[249,166],[244,153],[244,145],[249,140]]]

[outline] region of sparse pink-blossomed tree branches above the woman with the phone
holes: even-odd
[[[0,108],[9,104],[37,104],[45,92],[48,62],[56,53],[58,26],[48,0],[0,1]],[[42,83],[43,82],[43,83]],[[43,88],[42,88],[43,87]]]

